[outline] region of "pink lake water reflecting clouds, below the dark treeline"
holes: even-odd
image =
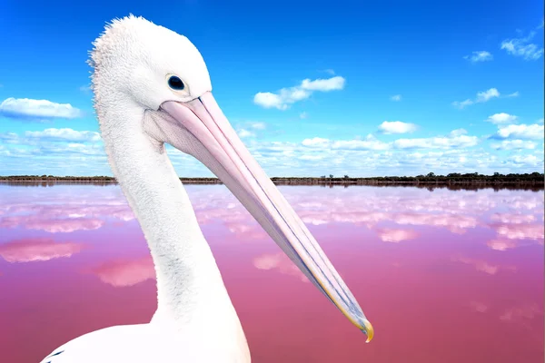
[[[365,344],[224,186],[186,188],[255,362],[543,361],[543,191],[281,186],[372,321]],[[0,184],[0,200],[0,360],[151,319],[118,186]]]

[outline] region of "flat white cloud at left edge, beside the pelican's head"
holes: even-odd
[[[0,115],[28,119],[74,119],[81,117],[82,112],[70,103],[10,97],[0,103]]]

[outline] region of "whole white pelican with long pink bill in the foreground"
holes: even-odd
[[[105,26],[89,64],[108,161],[154,260],[157,310],[148,324],[74,338],[43,363],[251,361],[165,143],[203,162],[316,288],[372,339],[372,325],[352,292],[223,115],[203,57],[186,37],[129,15]]]

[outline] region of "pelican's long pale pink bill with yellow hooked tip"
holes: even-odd
[[[166,124],[162,127],[168,138],[176,140],[173,133],[180,128],[192,133],[203,146],[194,156],[222,180],[307,278],[367,335],[367,342],[371,341],[372,325],[352,292],[311,232],[244,147],[212,93],[204,93],[188,103],[166,102],[161,108],[171,116],[164,117]]]

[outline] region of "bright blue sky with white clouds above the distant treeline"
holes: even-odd
[[[8,0],[0,174],[112,174],[85,61],[129,13],[199,48],[270,176],[543,172],[541,0]],[[169,152],[180,176],[211,175]]]

